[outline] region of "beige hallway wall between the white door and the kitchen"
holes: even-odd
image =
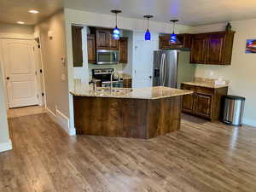
[[[52,38],[48,37],[49,31]],[[67,58],[63,11],[35,26],[35,33],[39,34],[42,47],[46,108],[65,131],[73,134],[69,130],[67,61],[61,61]]]

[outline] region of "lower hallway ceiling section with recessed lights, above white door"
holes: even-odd
[[[26,25],[34,25],[61,8],[62,0],[0,0],[0,22],[16,23],[20,20]],[[40,13],[30,14],[30,9],[37,9]]]

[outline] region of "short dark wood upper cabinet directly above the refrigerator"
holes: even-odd
[[[159,37],[159,49],[190,49],[191,35],[188,33],[177,34],[177,43],[170,42],[170,35],[163,35]]]

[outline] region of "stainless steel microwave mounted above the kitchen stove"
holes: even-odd
[[[97,49],[96,54],[98,65],[119,63],[119,50]]]

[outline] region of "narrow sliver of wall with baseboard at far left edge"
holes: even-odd
[[[7,122],[6,104],[3,92],[3,77],[2,69],[0,67],[0,152],[9,150],[12,148],[11,141],[9,139],[9,127]]]

